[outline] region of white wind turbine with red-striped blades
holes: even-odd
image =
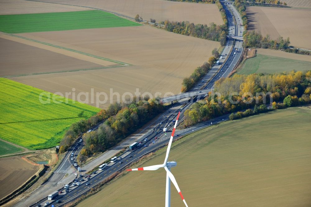
[[[181,194],[181,191],[178,187],[178,184],[175,180],[174,175],[170,172],[170,169],[172,167],[175,167],[177,165],[176,162],[167,162],[167,159],[169,158],[169,150],[171,148],[172,145],[172,141],[173,141],[173,136],[174,136],[174,132],[176,129],[176,125],[178,122],[178,118],[179,118],[179,114],[177,115],[177,119],[174,125],[174,129],[172,131],[172,135],[171,138],[169,139],[169,145],[167,147],[167,151],[166,151],[166,156],[165,156],[165,160],[164,163],[161,165],[152,165],[152,166],[148,166],[148,167],[143,167],[143,168],[135,168],[135,169],[128,169],[127,171],[134,171],[134,170],[157,170],[159,168],[164,168],[166,170],[166,189],[165,189],[165,207],[170,207],[170,181],[172,181],[172,183],[174,184],[175,188],[177,189],[181,199],[183,200],[184,204],[188,207],[185,199],[183,198],[183,195]]]

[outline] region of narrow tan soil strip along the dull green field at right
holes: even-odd
[[[308,55],[299,55],[295,53],[287,53],[287,52],[280,51],[280,50],[271,50],[271,49],[262,49],[262,48],[258,48],[256,50],[258,54],[262,54],[262,55],[270,55],[270,56],[275,56],[279,58],[289,58],[293,60],[311,62],[311,56],[308,56]]]

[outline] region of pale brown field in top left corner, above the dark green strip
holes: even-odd
[[[0,0],[0,15],[2,14],[27,14],[59,11],[89,10],[84,7],[74,7],[60,4],[32,2],[25,0]]]

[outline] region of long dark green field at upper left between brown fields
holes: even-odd
[[[99,10],[0,15],[0,31],[7,33],[78,30],[138,25],[140,24]]]

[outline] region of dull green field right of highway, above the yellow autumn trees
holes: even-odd
[[[284,71],[304,71],[310,70],[311,62],[279,58],[268,55],[256,54],[254,58],[245,60],[238,74],[252,73],[279,73]]]

